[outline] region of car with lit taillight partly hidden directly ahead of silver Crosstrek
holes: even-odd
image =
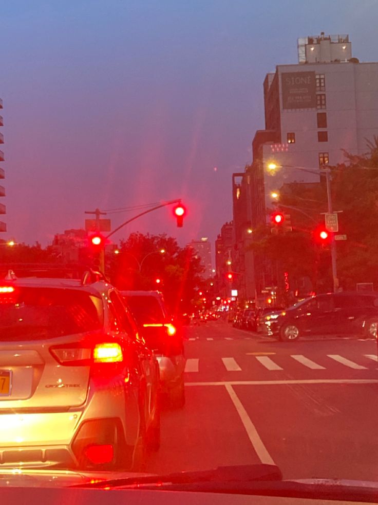
[[[121,291],[160,368],[162,392],[176,407],[185,404],[184,344],[180,326],[169,316],[159,291]]]

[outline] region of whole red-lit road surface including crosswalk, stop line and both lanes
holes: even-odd
[[[375,341],[278,342],[222,321],[186,337],[186,405],[164,409],[148,471],[263,462],[284,478],[378,481]]]

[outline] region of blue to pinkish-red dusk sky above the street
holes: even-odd
[[[114,229],[137,207],[182,199],[126,225],[181,246],[232,220],[232,173],[263,129],[262,83],[297,63],[297,38],[349,33],[378,61],[376,0],[0,0],[8,231],[32,245],[84,228]],[[214,249],[214,247],[213,247]]]

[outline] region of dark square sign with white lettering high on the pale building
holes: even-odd
[[[282,108],[316,108],[315,72],[284,72],[281,74]]]

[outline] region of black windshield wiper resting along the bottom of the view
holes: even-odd
[[[119,479],[101,480],[72,487],[129,487],[148,484],[194,484],[200,482],[251,482],[281,481],[282,473],[275,465],[218,466],[211,470],[177,472],[165,475],[144,475]]]

